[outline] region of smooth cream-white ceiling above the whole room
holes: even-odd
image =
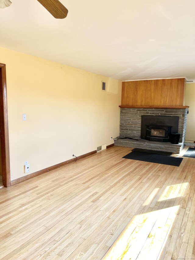
[[[194,0],[37,0],[0,9],[0,46],[120,80],[195,80]],[[1,62],[1,60],[0,60]]]

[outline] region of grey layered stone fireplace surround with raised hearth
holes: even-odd
[[[170,142],[161,143],[147,140],[119,139],[115,141],[116,146],[131,148],[143,148],[157,151],[171,151],[179,154],[183,149],[186,134],[187,108],[185,109],[164,109],[164,108],[120,108],[120,137],[134,137],[141,135],[141,116],[179,116],[178,133],[181,134],[179,144]],[[135,137],[136,138],[136,137]],[[137,139],[138,139],[137,138]]]

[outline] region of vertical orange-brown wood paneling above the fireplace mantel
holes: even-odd
[[[122,82],[121,105],[182,106],[184,83],[185,78]]]

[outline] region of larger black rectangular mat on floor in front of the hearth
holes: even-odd
[[[167,155],[157,155],[157,154],[149,154],[143,152],[140,153],[134,151],[130,152],[129,154],[125,155],[122,158],[138,160],[143,162],[161,163],[161,164],[172,165],[172,166],[179,166],[183,160],[183,158],[176,158]]]

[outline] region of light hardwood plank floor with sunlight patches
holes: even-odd
[[[0,259],[195,259],[195,159],[123,159],[130,150],[0,189]]]

